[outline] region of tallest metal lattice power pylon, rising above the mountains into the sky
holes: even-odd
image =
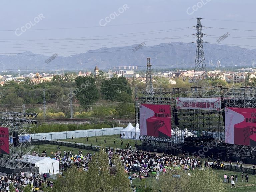
[[[204,60],[204,50],[203,50],[203,33],[201,18],[197,19],[197,32],[196,32],[196,61],[195,61],[195,71],[194,71],[194,81],[199,81],[207,77],[207,70]]]

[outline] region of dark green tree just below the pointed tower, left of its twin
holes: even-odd
[[[73,90],[73,95],[84,104],[86,108],[99,99],[99,90],[96,88],[95,79],[92,76],[79,76],[75,79],[77,87]]]

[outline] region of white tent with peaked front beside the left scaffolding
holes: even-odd
[[[35,167],[39,167],[40,174],[49,173],[49,170],[51,170],[51,174],[60,172],[59,161],[48,157],[23,155],[21,161],[35,164]]]

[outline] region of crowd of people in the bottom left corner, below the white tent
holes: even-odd
[[[23,191],[23,188],[30,185],[33,188],[33,191],[39,191],[43,187],[52,187],[53,183],[46,181],[45,179],[40,179],[35,177],[35,173],[30,173],[29,177],[24,176],[23,172],[20,172],[19,175],[13,177],[4,177],[1,176],[0,181],[0,190],[9,191],[10,187],[13,186],[16,192]]]

